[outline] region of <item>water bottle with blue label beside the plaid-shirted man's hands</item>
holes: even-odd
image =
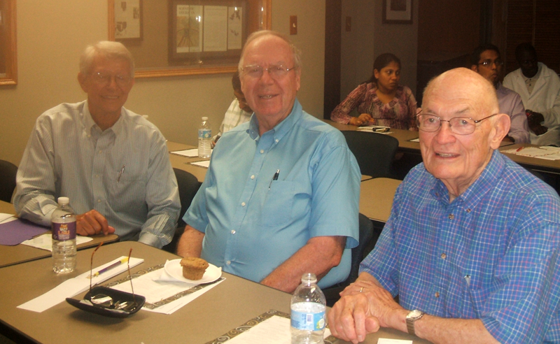
[[[317,286],[314,273],[304,273],[291,302],[292,344],[323,343],[325,331],[325,295]]]

